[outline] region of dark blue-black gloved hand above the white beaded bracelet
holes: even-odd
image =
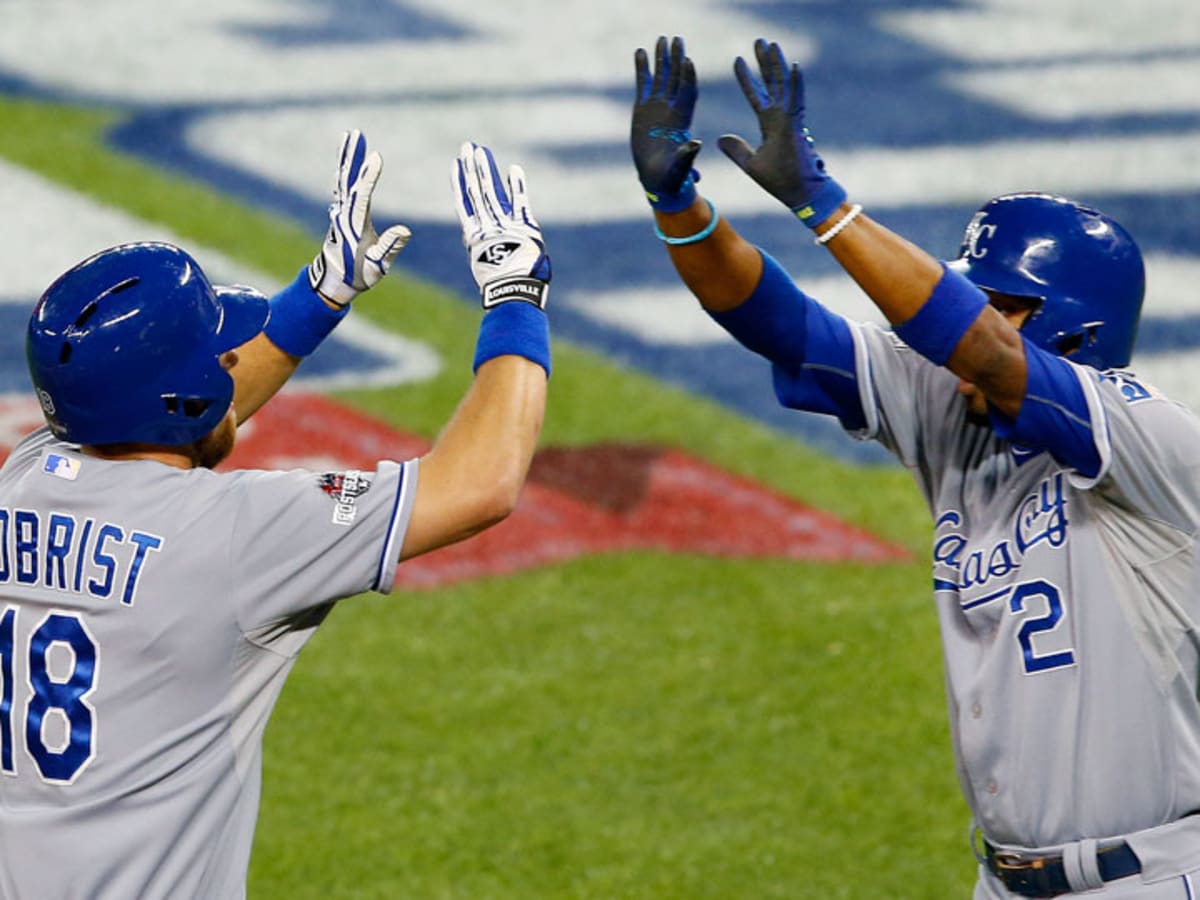
[[[841,205],[846,192],[826,173],[824,161],[804,125],[804,76],[799,66],[788,66],[779,44],[761,37],[754,52],[762,79],[740,56],[733,73],[758,116],[762,143],[756,150],[737,134],[722,134],[718,145],[767,193],[809,228],[816,228]]]

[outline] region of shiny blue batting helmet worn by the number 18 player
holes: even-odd
[[[77,444],[190,444],[229,410],[220,355],[257,335],[266,298],[214,288],[169,244],[125,244],[61,275],[34,307],[29,372],[50,430]]]

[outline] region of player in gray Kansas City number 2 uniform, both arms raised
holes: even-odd
[[[806,296],[697,193],[679,38],[635,55],[634,161],[679,275],[770,360],[779,401],[881,442],[929,503],[974,896],[1195,896],[1200,421],[1126,370],[1136,245],[1093,209],[1008,194],[938,262],[847,202],[805,128],[799,70],[766,41],[755,58],[734,74],[761,143],[726,134],[721,150],[892,329]]]

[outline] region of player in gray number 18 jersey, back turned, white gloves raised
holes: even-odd
[[[72,268],[28,355],[47,427],[0,469],[0,898],[245,895],[262,738],[331,605],[514,508],[550,371],[550,262],[524,175],[452,166],[486,312],[475,378],[420,460],[370,472],[211,467],[388,271],[382,161],[344,136],[330,230],[268,301],[179,247]]]

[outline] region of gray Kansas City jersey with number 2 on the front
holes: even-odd
[[[889,332],[853,332],[862,436],[934,514],[954,749],[984,833],[1038,848],[1200,809],[1200,421],[1130,373],[1069,366],[1099,458],[1085,476],[968,421],[958,379]]]

